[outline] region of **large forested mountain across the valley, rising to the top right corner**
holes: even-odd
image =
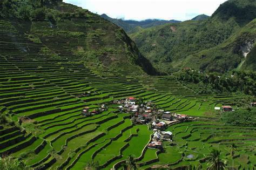
[[[232,44],[235,44],[229,41],[254,18],[256,18],[255,1],[232,0],[221,4],[210,18],[155,26],[133,32],[130,37],[136,42],[140,52],[162,72],[171,73],[187,65],[201,71],[225,72],[236,69],[244,61],[244,56],[238,52],[239,48],[231,47]],[[254,43],[253,36],[249,39]],[[239,44],[246,44],[247,39],[241,38],[241,40],[244,42]],[[204,50],[211,51],[214,47],[218,49],[217,46],[223,46],[222,43],[230,44],[228,47],[237,49],[236,52],[230,53],[231,56],[227,57],[227,53],[218,51],[218,57],[215,56],[217,53],[214,55],[215,59],[210,59],[211,57],[207,56],[210,57],[208,62],[204,57],[197,58],[197,60],[193,60],[191,57],[197,53],[203,53]],[[227,58],[230,59],[231,64],[226,66],[223,63]],[[214,62],[212,67],[210,60],[212,63]],[[189,62],[191,63],[188,64]]]

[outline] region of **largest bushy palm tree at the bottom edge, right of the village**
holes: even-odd
[[[224,162],[220,159],[220,151],[218,149],[213,149],[210,154],[205,159],[210,165],[208,170],[223,170],[225,169]]]

